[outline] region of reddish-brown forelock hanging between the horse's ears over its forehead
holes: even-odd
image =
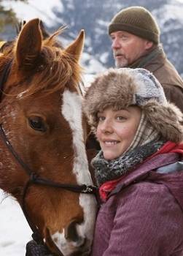
[[[52,93],[69,84],[77,86],[81,80],[81,67],[69,53],[55,46],[44,45],[40,55],[37,73],[33,75],[35,83],[31,84],[28,94],[42,90],[46,94]]]

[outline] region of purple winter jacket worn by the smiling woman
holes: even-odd
[[[183,256],[179,161],[176,153],[157,155],[117,184],[98,211],[93,256]]]

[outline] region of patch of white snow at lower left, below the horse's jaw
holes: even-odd
[[[0,189],[0,255],[25,256],[31,229],[17,202]]]

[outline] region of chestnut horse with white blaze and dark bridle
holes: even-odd
[[[54,255],[89,255],[97,203],[79,89],[85,33],[65,49],[40,20],[0,56],[0,188]]]

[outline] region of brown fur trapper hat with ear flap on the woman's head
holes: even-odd
[[[91,83],[83,102],[84,112],[95,130],[98,110],[137,105],[147,121],[166,140],[183,140],[183,114],[167,102],[163,87],[147,69],[109,69]]]

